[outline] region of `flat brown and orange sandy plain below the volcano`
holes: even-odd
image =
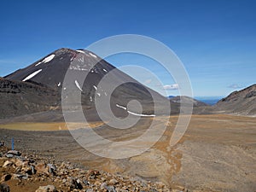
[[[160,131],[159,125],[166,123],[164,120],[157,119],[154,131]],[[123,160],[91,154],[76,143],[69,131],[58,131],[61,123],[30,123],[29,128],[22,124],[0,125],[8,128],[0,130],[0,139],[10,145],[11,137],[14,137],[15,148],[24,153],[162,181],[170,186],[180,184],[188,189],[204,191],[256,191],[255,118],[224,114],[194,115],[182,140],[170,147],[176,122],[177,117],[172,116],[167,130],[153,148]],[[92,127],[102,137],[126,141],[143,134],[150,123],[150,119],[144,118],[127,130],[111,129],[101,123],[94,123]],[[95,148],[101,150],[102,146],[95,144]]]

